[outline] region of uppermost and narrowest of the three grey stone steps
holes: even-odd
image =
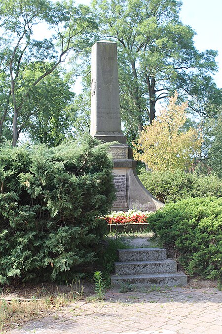
[[[128,248],[118,249],[119,261],[161,261],[166,260],[163,248]]]

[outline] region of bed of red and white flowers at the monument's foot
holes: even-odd
[[[148,216],[151,212],[147,211],[112,211],[105,216],[106,223],[112,224],[145,224],[148,223]]]

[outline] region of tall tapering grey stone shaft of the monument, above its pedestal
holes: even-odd
[[[92,47],[91,135],[126,143],[121,131],[117,48],[109,41]]]

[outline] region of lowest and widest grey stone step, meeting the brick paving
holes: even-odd
[[[124,283],[136,286],[185,286],[187,285],[187,276],[183,273],[111,276],[113,286],[120,286]]]

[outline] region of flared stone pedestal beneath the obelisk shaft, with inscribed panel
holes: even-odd
[[[111,210],[156,211],[164,204],[144,187],[137,176],[136,161],[132,158],[132,148],[127,144],[112,145],[113,175],[116,200]],[[124,157],[124,158],[121,158]]]

